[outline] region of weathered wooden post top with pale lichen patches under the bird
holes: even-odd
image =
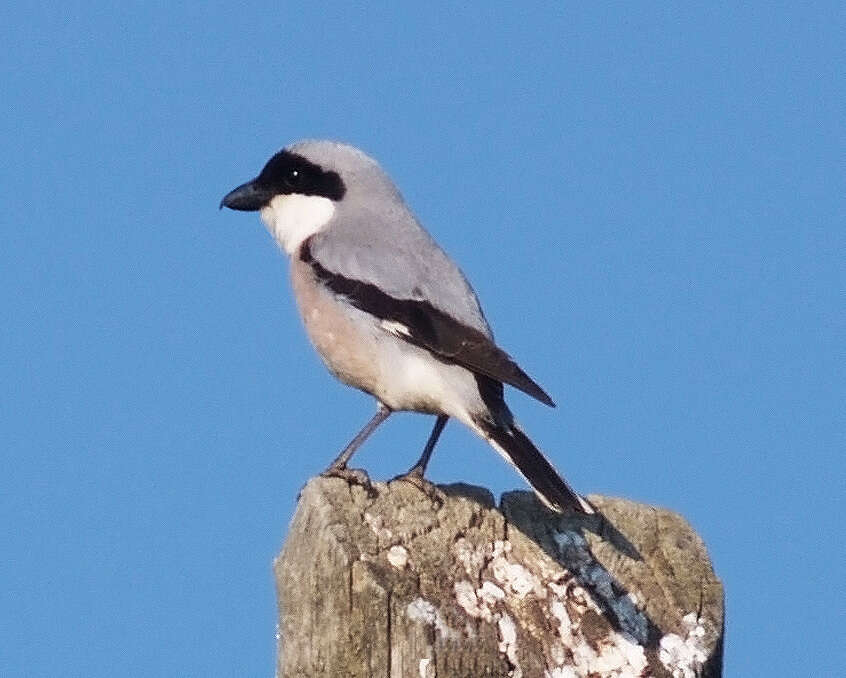
[[[590,497],[317,478],[276,560],[282,678],[720,676],[723,590],[683,518]]]

